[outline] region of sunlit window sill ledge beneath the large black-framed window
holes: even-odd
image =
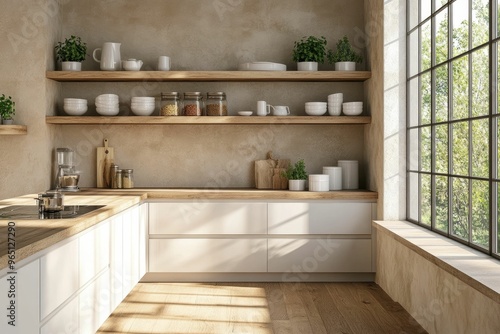
[[[374,221],[373,227],[500,303],[500,261],[409,222]]]

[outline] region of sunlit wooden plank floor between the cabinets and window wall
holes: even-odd
[[[139,283],[97,333],[426,333],[374,283]]]

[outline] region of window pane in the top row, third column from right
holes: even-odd
[[[453,56],[469,50],[469,1],[457,0],[453,10]]]

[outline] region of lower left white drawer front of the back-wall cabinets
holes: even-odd
[[[266,239],[151,239],[150,272],[266,272]]]

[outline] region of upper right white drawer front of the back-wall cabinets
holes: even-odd
[[[371,234],[372,203],[269,203],[269,234]]]

